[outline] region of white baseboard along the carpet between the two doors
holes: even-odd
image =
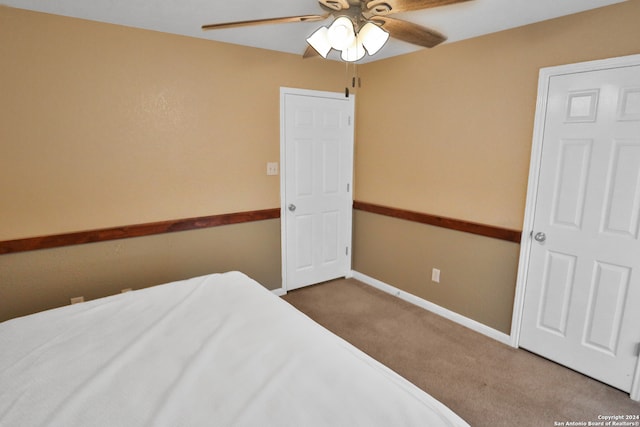
[[[369,286],[373,286],[383,292],[396,296],[404,301],[410,302],[411,304],[417,305],[420,308],[424,308],[427,311],[435,313],[439,316],[444,317],[445,319],[456,322],[462,326],[465,326],[475,332],[481,333],[483,335],[488,336],[489,338],[493,338],[496,341],[500,341],[503,344],[508,346],[513,346],[511,342],[511,337],[504,332],[500,332],[496,329],[493,329],[487,325],[484,325],[480,322],[477,322],[473,319],[469,319],[461,314],[458,314],[454,311],[441,307],[437,304],[429,302],[425,299],[417,297],[413,294],[405,292],[396,288],[395,286],[391,286],[387,283],[384,283],[378,279],[374,279],[373,277],[367,276],[366,274],[359,273],[357,271],[352,272],[352,277],[356,280],[359,280],[362,283],[365,283]]]

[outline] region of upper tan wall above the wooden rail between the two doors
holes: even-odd
[[[522,227],[538,71],[640,53],[640,1],[362,67],[356,199]]]

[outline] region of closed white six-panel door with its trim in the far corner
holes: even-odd
[[[284,288],[351,269],[353,98],[282,90]]]

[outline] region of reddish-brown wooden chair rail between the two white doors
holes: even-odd
[[[478,224],[475,222],[462,221],[459,219],[444,218],[441,216],[429,215],[420,212],[374,205],[372,203],[354,201],[353,208],[379,215],[419,222],[422,224],[449,228],[451,230],[464,231],[466,233],[478,234],[485,237],[493,237],[494,239],[506,240],[508,242],[520,243],[520,238],[522,237],[522,231],[518,230]]]

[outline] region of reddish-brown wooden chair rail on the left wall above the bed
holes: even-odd
[[[220,225],[240,224],[280,218],[280,208],[248,212],[236,212],[197,218],[176,219],[171,221],[150,222],[146,224],[125,225],[100,230],[78,231],[51,236],[30,237],[26,239],[0,242],[0,255],[16,252],[35,251],[37,249],[59,248],[81,245],[83,243],[104,242],[107,240],[127,239],[130,237],[151,236],[172,233],[174,231],[197,230]]]

